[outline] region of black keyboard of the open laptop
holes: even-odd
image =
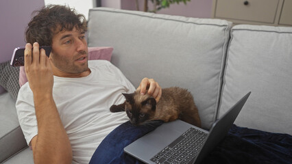
[[[151,161],[155,163],[191,163],[203,146],[208,133],[189,128],[166,148],[158,152]]]

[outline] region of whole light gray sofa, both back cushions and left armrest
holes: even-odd
[[[203,128],[252,92],[235,123],[292,135],[292,27],[235,25],[110,8],[89,12],[88,46],[112,46],[112,63],[194,96]],[[9,92],[0,95],[0,163],[33,163]]]

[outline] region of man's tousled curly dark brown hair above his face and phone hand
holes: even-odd
[[[25,40],[40,46],[51,46],[53,36],[62,31],[71,31],[75,27],[78,31],[86,32],[86,18],[82,14],[65,5],[47,5],[36,14],[28,23],[25,31]]]

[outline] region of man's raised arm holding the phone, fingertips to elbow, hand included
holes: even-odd
[[[38,43],[25,46],[25,73],[34,94],[38,135],[32,141],[34,163],[71,163],[72,149],[53,100],[53,73]]]

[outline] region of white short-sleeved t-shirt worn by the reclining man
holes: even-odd
[[[109,61],[88,61],[88,66],[91,73],[87,77],[54,77],[53,83],[53,99],[73,150],[72,163],[89,163],[104,137],[129,120],[125,112],[111,113],[110,106],[125,100],[121,93],[135,90]],[[28,83],[19,91],[16,109],[29,144],[38,134],[38,126]]]

